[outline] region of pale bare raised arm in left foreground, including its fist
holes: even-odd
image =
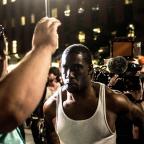
[[[32,50],[0,81],[0,132],[23,123],[39,103],[57,47],[59,25],[54,18],[41,19],[33,34]]]

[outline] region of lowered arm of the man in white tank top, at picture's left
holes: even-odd
[[[46,127],[46,138],[50,144],[60,144],[58,135],[55,131],[55,118],[56,118],[56,96],[51,96],[44,104],[44,119]]]

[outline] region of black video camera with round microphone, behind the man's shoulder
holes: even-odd
[[[141,68],[141,65],[135,63],[133,58],[123,56],[111,58],[108,62],[108,69],[113,75],[118,75],[118,81],[113,88],[122,92],[139,90],[141,86],[138,71]]]

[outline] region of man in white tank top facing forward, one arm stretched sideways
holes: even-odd
[[[127,115],[144,128],[144,113],[125,95],[91,81],[90,51],[74,44],[62,54],[64,86],[44,104],[52,144],[116,144],[115,121]]]

